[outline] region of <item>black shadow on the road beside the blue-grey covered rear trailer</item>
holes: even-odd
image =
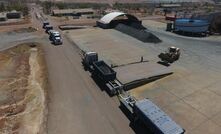
[[[133,116],[122,106],[119,106],[120,110],[124,113],[124,115],[130,120],[129,126],[133,129],[135,134],[153,134],[148,128],[141,123],[139,120],[134,122]]]

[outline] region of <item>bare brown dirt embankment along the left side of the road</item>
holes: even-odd
[[[0,52],[0,133],[44,133],[47,72],[41,48],[30,45]]]

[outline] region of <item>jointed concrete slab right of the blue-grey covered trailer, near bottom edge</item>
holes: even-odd
[[[204,115],[182,100],[172,103],[164,109],[165,112],[187,130],[187,132],[191,132],[191,130],[207,120]]]

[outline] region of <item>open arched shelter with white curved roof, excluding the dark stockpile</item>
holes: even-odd
[[[127,20],[115,20],[116,18],[121,17],[121,16],[126,16],[128,19]],[[97,21],[97,26],[104,28],[104,29],[108,29],[108,28],[114,28],[119,23],[140,23],[141,24],[141,21],[139,21],[137,17],[127,14],[127,13],[112,12],[112,13],[105,15],[99,21]]]

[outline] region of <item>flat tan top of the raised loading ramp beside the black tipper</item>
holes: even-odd
[[[124,85],[172,73],[169,67],[151,62],[129,64],[116,67],[114,70],[117,72],[117,78]]]

